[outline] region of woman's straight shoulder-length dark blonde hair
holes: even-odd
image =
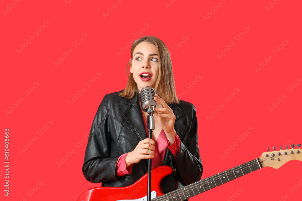
[[[159,54],[159,71],[154,90],[159,93],[159,96],[166,103],[179,103],[175,91],[175,81],[173,77],[172,61],[169,50],[162,40],[155,36],[143,36],[132,43],[131,47],[131,60],[127,63],[126,71],[128,74],[128,82],[126,88],[119,95],[128,99],[133,98],[135,93],[138,93],[136,82],[134,81],[133,74],[128,72],[128,67],[131,65],[133,50],[137,44],[141,42],[151,43],[156,46]]]

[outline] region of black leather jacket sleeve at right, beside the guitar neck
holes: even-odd
[[[193,105],[191,114],[191,125],[181,141],[179,154],[175,158],[171,155],[172,168],[183,186],[200,180],[203,171],[198,147],[196,111]]]

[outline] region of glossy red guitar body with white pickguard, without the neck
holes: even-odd
[[[169,166],[159,166],[151,171],[151,198],[163,195],[160,190],[162,178],[172,173]],[[97,187],[86,190],[77,201],[147,200],[148,174],[127,187]],[[145,198],[144,198],[145,197]]]

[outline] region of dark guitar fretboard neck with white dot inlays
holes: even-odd
[[[259,158],[257,158],[255,160],[239,165],[235,168],[231,168],[229,170],[215,174],[211,177],[207,177],[203,180],[192,183],[188,186],[182,187],[181,189],[171,191],[152,200],[185,200],[200,193],[203,193],[207,190],[220,186],[226,182],[234,180],[238,177],[241,177],[245,174],[248,174],[252,171],[259,170],[260,168],[262,168],[262,165]]]

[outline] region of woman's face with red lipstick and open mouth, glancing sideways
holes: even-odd
[[[155,87],[159,71],[159,56],[155,45],[147,42],[139,43],[133,50],[130,72],[138,90],[144,87]]]

